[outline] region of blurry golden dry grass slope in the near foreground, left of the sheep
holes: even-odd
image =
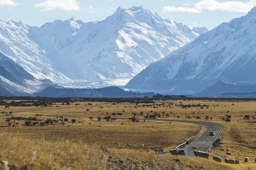
[[[22,167],[30,164],[31,169],[180,169],[180,170],[232,170],[227,164],[211,160],[159,155],[134,150],[101,149],[83,143],[69,141],[46,142],[29,140],[9,135],[0,136],[0,150],[11,164]],[[109,153],[108,153],[109,152]],[[236,168],[235,168],[236,169]],[[235,170],[234,169],[234,170]]]

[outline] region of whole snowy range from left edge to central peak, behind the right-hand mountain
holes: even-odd
[[[134,6],[118,8],[99,22],[71,18],[32,27],[0,20],[0,51],[36,80],[49,79],[67,87],[102,87],[128,82],[201,33],[200,28],[192,31]]]

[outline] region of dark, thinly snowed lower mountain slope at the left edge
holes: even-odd
[[[29,95],[54,85],[37,80],[20,65],[0,52],[0,96]]]

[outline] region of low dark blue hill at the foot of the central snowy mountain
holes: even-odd
[[[136,93],[136,97],[154,96],[153,92]],[[33,96],[42,97],[133,97],[133,91],[125,91],[118,87],[95,88],[95,89],[73,89],[64,87],[48,87]]]

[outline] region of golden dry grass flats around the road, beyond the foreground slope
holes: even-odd
[[[0,127],[0,130],[4,133],[18,134],[22,132],[29,136],[30,139],[41,139],[44,137],[46,141],[57,142],[57,139],[73,139],[77,138],[85,143],[98,145],[104,145],[106,147],[112,147],[114,143],[120,143],[119,150],[115,150],[115,152],[126,153],[120,148],[124,148],[126,143],[136,144],[139,146],[140,144],[148,144],[148,148],[155,147],[168,147],[174,146],[176,139],[178,141],[182,141],[185,139],[185,136],[197,136],[200,128],[197,126],[187,125],[185,129],[180,129],[181,126],[179,123],[172,123],[169,125],[168,122],[142,122],[139,123],[131,123],[128,121],[116,121],[116,122],[96,122],[93,121],[91,125],[89,125],[89,120],[84,118],[84,116],[93,116],[94,119],[96,116],[112,116],[112,113],[123,113],[122,117],[131,117],[132,113],[137,113],[136,117],[143,118],[146,113],[151,114],[151,111],[158,112],[162,114],[165,112],[169,114],[169,119],[177,119],[177,116],[180,116],[179,119],[186,119],[186,116],[200,116],[201,121],[205,121],[204,118],[206,116],[212,117],[209,119],[209,122],[217,122],[224,125],[224,128],[221,132],[221,136],[224,137],[224,140],[221,141],[221,147],[230,149],[230,153],[232,156],[227,156],[224,152],[220,150],[215,151],[215,155],[221,156],[223,159],[227,156],[230,159],[239,159],[240,162],[243,162],[245,157],[249,157],[251,162],[256,157],[256,120],[253,119],[252,116],[256,116],[256,102],[249,101],[239,101],[239,102],[228,102],[228,101],[170,101],[174,102],[174,105],[170,107],[159,107],[154,108],[151,107],[140,107],[137,106],[135,108],[134,104],[130,103],[122,103],[112,105],[112,103],[104,103],[104,102],[90,102],[93,103],[93,106],[88,106],[89,102],[80,102],[79,106],[72,105],[62,105],[58,103],[59,106],[54,109],[55,111],[37,111],[37,112],[27,112],[27,113],[18,113],[14,116],[24,116],[30,117],[34,116],[36,113],[43,113],[43,119],[47,119],[53,116],[63,115],[73,119],[81,118],[81,123],[76,122],[75,125],[71,127],[67,127],[65,125],[62,127],[61,125],[50,125],[47,127],[25,127],[25,126],[17,126],[15,128],[6,127],[6,123],[1,123],[0,125],[4,127]],[[182,103],[180,103],[182,102]],[[161,102],[159,102],[161,103]],[[201,105],[209,105],[209,108],[204,107],[201,109],[200,107],[195,108],[181,108],[177,105],[192,105],[192,104],[201,104]],[[176,104],[176,105],[175,105]],[[139,104],[142,105],[142,104]],[[168,104],[166,104],[168,106]],[[131,106],[131,107],[130,107]],[[102,108],[103,107],[103,108]],[[18,110],[44,110],[44,109],[52,109],[49,107],[11,107],[10,109],[0,109],[1,111],[18,111]],[[86,109],[90,109],[90,111],[86,111]],[[124,112],[123,112],[124,111]],[[140,116],[140,112],[143,112],[143,116]],[[108,113],[108,114],[107,114]],[[231,122],[226,123],[222,121],[221,118],[225,117],[225,115],[231,115]],[[250,120],[244,120],[244,115],[250,115]],[[119,116],[119,117],[121,117]],[[8,117],[8,116],[7,116]],[[0,114],[0,118],[6,119],[6,115]],[[165,119],[166,116],[165,116]],[[190,120],[195,120],[192,118]],[[4,121],[4,120],[3,120]],[[121,126],[121,122],[124,122],[124,125]],[[23,123],[23,122],[22,122]],[[84,125],[81,125],[81,124]],[[102,126],[102,127],[99,127]],[[151,127],[152,126],[152,127]],[[122,128],[121,128],[122,127]],[[170,128],[171,127],[171,128]],[[174,131],[177,130],[177,131]],[[180,131],[179,131],[180,130]],[[186,132],[184,131],[186,130]],[[190,131],[189,131],[190,130]],[[203,129],[201,129],[203,130]],[[182,131],[184,133],[182,133]],[[83,136],[86,133],[86,136]],[[41,134],[41,135],[40,135]],[[170,136],[169,134],[175,135]],[[31,137],[30,137],[31,136]],[[131,136],[133,136],[131,138]],[[154,136],[154,137],[152,137]],[[157,137],[156,137],[157,136]],[[99,142],[100,139],[100,142]],[[117,142],[119,141],[121,142]],[[136,139],[136,140],[135,140]],[[77,142],[75,142],[77,144]],[[129,154],[140,154],[137,151],[127,151]],[[127,153],[127,154],[128,154]],[[211,154],[214,153],[213,150],[210,151]],[[192,159],[193,160],[193,159]],[[195,161],[195,160],[194,160]],[[199,162],[198,162],[199,161]],[[195,162],[201,164],[201,159],[196,159]],[[212,162],[211,162],[212,163]],[[241,165],[228,165],[230,169],[244,169],[250,167],[251,169],[256,169],[254,164],[244,164]],[[196,168],[195,168],[196,169]],[[222,168],[223,169],[223,168]]]

